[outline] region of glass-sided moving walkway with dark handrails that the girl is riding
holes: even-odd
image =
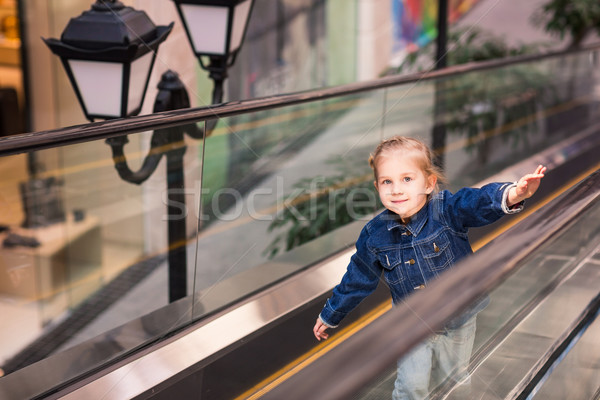
[[[575,372],[565,366],[585,357],[592,361],[576,370],[586,377],[581,393],[562,398],[597,397],[590,349],[598,344],[590,338],[600,279],[598,51],[0,139],[2,161],[16,163],[23,153],[52,160],[59,149],[63,159],[47,175],[64,184],[60,231],[69,244],[48,261],[54,275],[45,290],[32,292],[44,326],[31,351],[4,363],[0,397],[389,398],[395,360],[482,294],[491,303],[478,316],[470,365],[476,398],[551,398],[546,393],[561,393],[554,388],[564,389]],[[487,90],[472,92],[478,81]],[[368,154],[395,134],[431,142],[436,88],[449,102],[445,144],[436,150],[450,190],[513,181],[538,164],[549,168],[544,184],[524,213],[470,233],[475,256],[452,272],[454,286],[439,289],[452,301],[417,293],[392,309],[380,285],[318,343],[314,320],[380,207]],[[457,105],[464,93],[472,101]],[[182,190],[193,206],[185,209],[189,239],[180,244],[188,252],[188,296],[169,303],[164,237],[152,237],[173,217],[159,200],[165,179],[126,186],[103,142],[129,135],[139,151],[128,157],[141,161],[145,130],[202,128],[215,113],[212,136],[177,144],[188,148]],[[247,174],[228,174],[234,164]],[[18,196],[0,189],[17,208]],[[322,207],[333,218],[318,218]],[[87,230],[75,220],[82,215]],[[30,253],[41,271],[41,250]],[[132,261],[117,268],[121,253]],[[3,253],[4,264],[8,254],[15,253]],[[2,265],[11,278],[16,266]],[[454,390],[447,383],[431,397],[461,398]]]

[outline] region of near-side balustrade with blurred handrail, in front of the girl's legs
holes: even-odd
[[[456,297],[411,296],[261,398],[306,398],[314,388],[322,399],[389,398],[395,360],[460,313],[464,298],[485,293],[469,394],[449,380],[431,398],[597,398],[599,180],[594,173],[436,282],[438,293]],[[448,312],[449,303],[463,306]]]

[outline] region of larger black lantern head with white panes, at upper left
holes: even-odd
[[[61,40],[43,39],[58,55],[86,118],[139,114],[158,46],[169,26],[155,26],[145,12],[117,0],[97,0],[72,18]]]

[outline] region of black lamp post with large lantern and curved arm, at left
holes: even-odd
[[[44,41],[61,58],[86,118],[90,121],[114,119],[139,114],[158,46],[172,27],[173,23],[157,27],[145,12],[126,7],[120,1],[97,0],[89,11],[69,21],[60,40]],[[176,74],[170,71],[164,74],[159,90],[155,112],[190,106]],[[193,127],[196,130],[189,129],[192,135],[201,137],[196,125]],[[179,191],[172,189],[183,187],[185,147],[170,144],[183,142],[182,128],[155,131],[150,153],[136,172],[129,169],[125,160],[127,142],[127,136],[106,140],[119,176],[127,182],[141,184],[166,155],[169,200],[176,196],[174,193]],[[185,243],[185,219],[169,218],[168,224],[169,301],[172,302],[185,297],[187,291],[185,245],[181,249],[182,240]]]

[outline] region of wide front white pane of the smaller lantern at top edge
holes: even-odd
[[[182,4],[181,11],[196,54],[225,54],[228,8]]]

